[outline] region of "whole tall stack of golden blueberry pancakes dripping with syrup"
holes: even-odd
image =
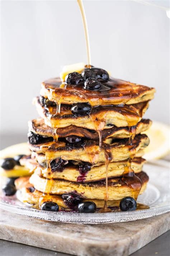
[[[29,121],[32,155],[20,160],[34,173],[15,181],[20,200],[55,202],[68,211],[76,209],[76,198],[97,208],[137,199],[148,182],[142,155],[149,139],[141,133],[151,120],[142,117],[154,92],[113,78],[99,91],[59,78],[43,82],[34,99],[41,118]]]

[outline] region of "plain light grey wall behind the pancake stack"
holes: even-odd
[[[152,1],[153,2],[153,1]],[[166,1],[166,4],[168,1]],[[146,117],[169,121],[169,19],[135,1],[84,1],[92,64],[155,87]],[[1,129],[27,133],[32,98],[61,66],[86,62],[76,1],[1,2]]]

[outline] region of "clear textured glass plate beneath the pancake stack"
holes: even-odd
[[[1,196],[0,208],[12,213],[34,217],[41,220],[84,224],[140,220],[169,212],[169,168],[161,164],[159,166],[154,164],[146,164],[145,171],[150,177],[150,182],[145,193],[138,197],[137,202],[147,204],[150,206],[150,209],[110,213],[47,212],[30,208],[16,199],[16,196]]]

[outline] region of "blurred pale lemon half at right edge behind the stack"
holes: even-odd
[[[170,128],[168,125],[153,121],[151,127],[143,133],[150,138],[150,144],[146,147],[143,156],[146,160],[160,159],[170,152]]]

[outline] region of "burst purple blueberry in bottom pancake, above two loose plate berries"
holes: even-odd
[[[70,209],[75,209],[77,208],[77,205],[82,202],[82,198],[79,197],[77,194],[63,194],[62,199],[64,200],[65,204],[70,208]]]

